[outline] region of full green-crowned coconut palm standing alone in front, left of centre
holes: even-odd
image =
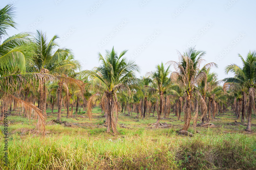
[[[140,71],[139,67],[133,60],[127,60],[124,55],[127,50],[117,54],[114,47],[111,51],[106,50],[106,55],[103,57],[98,55],[101,65],[88,71],[93,83],[92,87],[97,90],[97,93],[92,95],[88,100],[88,116],[91,119],[92,106],[105,98],[108,106],[107,115],[107,132],[110,133],[110,126],[114,133],[116,130],[116,121],[114,120],[114,112],[118,114],[119,103],[116,93],[128,91],[131,94],[131,88],[134,88],[134,72]],[[103,106],[103,105],[102,105]]]

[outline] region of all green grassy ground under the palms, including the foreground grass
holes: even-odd
[[[54,110],[57,112],[57,110]],[[47,110],[47,122],[57,114]],[[246,126],[228,125],[235,121],[232,111],[216,116],[220,121],[211,121],[216,127],[197,127],[200,133],[193,137],[176,133],[184,124],[170,114],[171,119],[160,122],[171,123],[173,128],[152,129],[156,117],[144,120],[133,116],[119,115],[120,134],[105,133],[106,127],[99,107],[93,109],[93,119],[65,118],[61,121],[77,123],[79,127],[63,125],[46,126],[45,138],[37,134],[22,134],[19,128],[34,128],[33,121],[22,116],[8,116],[10,124],[8,141],[8,167],[4,166],[3,138],[0,137],[0,169],[255,169],[256,137],[243,130]],[[182,118],[184,115],[182,115]],[[80,119],[80,120],[76,120]],[[252,123],[256,124],[252,116]],[[85,119],[85,120],[81,120]],[[139,120],[139,121],[138,121]],[[170,122],[172,121],[172,122]],[[239,120],[237,120],[239,122]],[[192,122],[191,122],[192,123]],[[200,123],[198,121],[198,123]],[[3,130],[3,126],[1,126]],[[194,133],[192,127],[189,132]]]

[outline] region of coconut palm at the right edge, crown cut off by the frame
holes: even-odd
[[[234,77],[229,77],[224,79],[226,82],[223,85],[223,88],[229,88],[232,86],[241,86],[242,94],[243,94],[243,104],[242,104],[242,120],[245,114],[245,92],[248,90],[249,94],[249,111],[248,111],[248,123],[247,123],[247,131],[251,131],[251,114],[252,114],[252,102],[254,101],[254,97],[256,95],[256,51],[249,51],[244,59],[240,54],[238,55],[242,60],[242,68],[236,64],[230,64],[225,68],[225,72],[232,72],[235,74]]]

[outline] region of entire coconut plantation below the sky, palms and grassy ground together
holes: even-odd
[[[0,10],[0,169],[255,169],[256,50],[223,80],[195,47],[140,77],[114,47],[82,70],[58,35],[8,36],[15,14]]]

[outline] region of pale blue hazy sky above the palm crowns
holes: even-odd
[[[177,50],[190,43],[219,65],[214,71],[223,79],[225,66],[241,64],[238,53],[245,57],[255,49],[252,0],[1,0],[0,6],[9,3],[19,24],[9,35],[36,29],[48,38],[58,34],[60,46],[71,48],[83,69],[98,66],[97,53],[114,46],[119,53],[128,49],[126,57],[136,60],[143,75],[161,61],[177,61]]]

